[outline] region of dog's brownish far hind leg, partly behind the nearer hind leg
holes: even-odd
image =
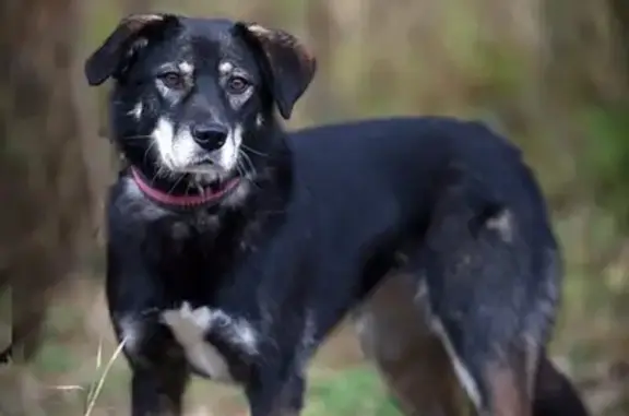
[[[413,276],[387,277],[355,312],[364,355],[406,416],[467,416],[471,406],[441,341],[416,305]]]

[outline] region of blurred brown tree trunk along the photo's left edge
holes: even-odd
[[[50,292],[69,272],[90,207],[73,93],[76,4],[0,2],[0,285],[12,295],[15,371],[41,342]],[[23,414],[23,394],[2,400],[0,413]]]

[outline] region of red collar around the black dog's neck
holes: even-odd
[[[179,209],[213,205],[227,195],[229,191],[234,190],[234,188],[236,188],[240,182],[240,178],[233,178],[225,182],[221,189],[215,191],[207,188],[204,189],[202,193],[192,195],[175,195],[153,188],[146,182],[144,176],[134,167],[131,167],[131,176],[133,181],[138,185],[138,188],[140,188],[140,190],[151,200],[163,205],[170,205]]]

